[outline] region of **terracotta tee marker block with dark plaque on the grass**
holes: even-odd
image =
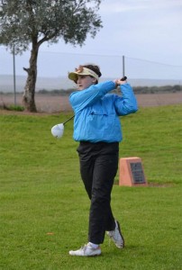
[[[148,185],[140,157],[120,158],[119,185]]]

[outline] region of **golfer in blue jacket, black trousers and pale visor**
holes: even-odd
[[[138,110],[132,87],[126,80],[98,83],[99,67],[84,65],[70,72],[68,78],[78,91],[70,94],[75,112],[73,138],[77,148],[80,174],[90,199],[88,242],[69,251],[71,256],[96,256],[106,234],[118,248],[124,247],[120,224],[111,209],[111,192],[118,168],[119,142],[123,139],[119,116]],[[122,95],[108,94],[120,86]]]

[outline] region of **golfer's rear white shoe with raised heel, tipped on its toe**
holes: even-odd
[[[115,220],[115,229],[107,231],[106,234],[114,241],[116,247],[124,247],[124,238],[120,229],[120,224],[117,220]]]

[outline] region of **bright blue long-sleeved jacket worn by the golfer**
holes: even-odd
[[[69,96],[75,112],[73,139],[90,142],[116,142],[123,139],[121,115],[136,112],[137,101],[129,84],[120,86],[122,96],[107,94],[113,81],[91,85]]]

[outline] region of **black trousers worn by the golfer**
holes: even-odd
[[[102,244],[105,230],[115,228],[111,192],[118,169],[119,143],[81,141],[77,152],[80,174],[91,200],[88,241]]]

